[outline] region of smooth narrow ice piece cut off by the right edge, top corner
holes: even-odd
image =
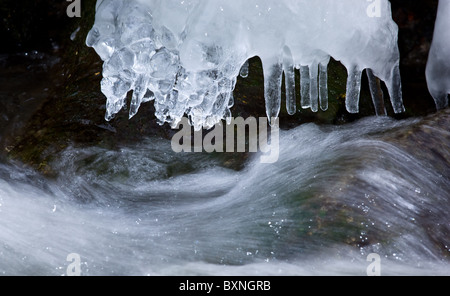
[[[440,0],[426,76],[436,107],[448,106],[450,94],[450,1]]]

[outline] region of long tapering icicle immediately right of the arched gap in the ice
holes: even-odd
[[[269,123],[272,118],[277,118],[281,108],[281,83],[283,77],[283,66],[275,63],[270,66],[264,63],[264,97],[266,99],[266,113]]]

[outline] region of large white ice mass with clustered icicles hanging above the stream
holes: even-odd
[[[231,117],[236,78],[254,56],[268,118],[279,115],[283,73],[288,113],[297,111],[296,69],[301,107],[326,110],[330,57],[348,69],[349,112],[359,111],[364,69],[377,113],[385,112],[378,79],[402,112],[397,33],[387,0],[98,0],[86,43],[104,60],[107,120],[133,90],[130,117],[154,99],[160,123],[187,114],[200,129]]]

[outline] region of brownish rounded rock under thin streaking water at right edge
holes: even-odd
[[[310,203],[306,214],[314,225],[308,230],[310,235],[318,241],[343,241],[365,253],[380,252],[389,245],[400,254],[407,245],[393,245],[392,241],[401,237],[407,242],[414,232],[424,244],[427,241],[424,250],[449,258],[449,124],[450,109],[442,110],[365,136],[362,148],[355,147],[352,152],[352,161],[334,159],[328,166],[340,170],[340,174],[332,175],[330,187],[316,188],[314,197],[306,202]],[[411,168],[415,171],[408,172]],[[386,217],[386,213],[392,217]]]

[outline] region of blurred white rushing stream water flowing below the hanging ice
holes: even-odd
[[[450,275],[448,175],[368,118],[284,131],[280,159],[241,171],[149,139],[68,148],[54,180],[0,166],[0,274]],[[435,127],[437,135],[448,131]]]

